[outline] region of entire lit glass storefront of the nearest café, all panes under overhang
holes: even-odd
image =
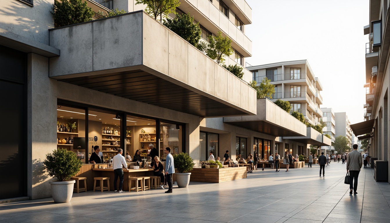
[[[95,152],[101,162],[110,162],[119,148],[128,162],[135,161],[135,154],[138,161],[151,160],[151,156],[165,159],[163,151],[168,146],[172,148],[172,154],[185,151],[185,126],[182,124],[141,118],[122,111],[88,108],[88,105],[72,107],[69,106],[72,102],[62,100],[58,103],[57,147],[75,152],[83,163],[89,163]],[[99,146],[99,150],[95,151],[94,146]]]

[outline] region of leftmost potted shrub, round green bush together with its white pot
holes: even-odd
[[[57,178],[50,181],[51,195],[55,203],[69,202],[73,194],[75,180],[69,180],[80,171],[82,162],[77,159],[76,153],[66,149],[54,150],[46,155],[43,161],[49,175]]]

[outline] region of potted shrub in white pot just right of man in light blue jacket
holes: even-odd
[[[188,153],[179,153],[173,156],[175,164],[175,177],[178,187],[187,187],[190,183],[191,171],[195,165]]]

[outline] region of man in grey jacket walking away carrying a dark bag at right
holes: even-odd
[[[358,145],[353,145],[353,151],[348,153],[347,159],[347,172],[349,171],[349,194],[357,194],[356,189],[358,187],[358,177],[360,173],[360,168],[362,168],[363,160],[362,153],[358,152]],[[355,182],[354,182],[355,181]]]

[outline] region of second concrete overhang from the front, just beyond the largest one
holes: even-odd
[[[257,99],[255,116],[225,117],[223,122],[271,136],[305,136],[306,125],[267,98]]]

